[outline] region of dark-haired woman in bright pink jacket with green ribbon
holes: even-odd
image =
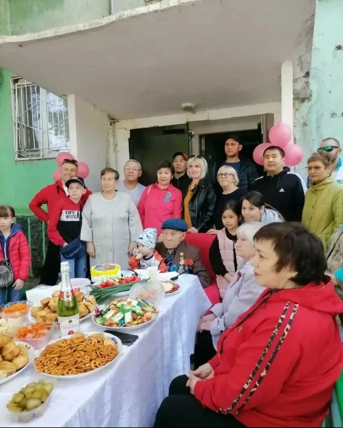
[[[147,186],[138,204],[143,229],[152,227],[161,233],[161,226],[169,218],[181,218],[182,193],[171,184],[174,167],[170,162],[157,165],[157,182]]]

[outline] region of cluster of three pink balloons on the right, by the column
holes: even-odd
[[[271,145],[277,145],[285,151],[285,165],[295,166],[300,164],[304,153],[299,145],[291,143],[291,139],[292,129],[286,123],[275,123],[269,131],[270,143],[261,143],[255,147],[252,154],[254,161],[258,165],[263,165],[264,151]]]

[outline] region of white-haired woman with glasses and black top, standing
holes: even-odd
[[[214,223],[216,230],[221,230],[224,225],[221,220],[221,214],[224,206],[230,202],[239,202],[242,196],[247,193],[247,188],[238,187],[239,179],[236,170],[232,166],[223,165],[219,168],[217,173],[217,180],[221,186],[222,192],[217,195],[217,206],[214,215]],[[216,233],[214,229],[211,229],[209,233]]]

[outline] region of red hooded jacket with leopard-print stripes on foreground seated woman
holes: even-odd
[[[320,427],[343,365],[331,282],[271,292],[230,326],[195,397],[247,427]]]

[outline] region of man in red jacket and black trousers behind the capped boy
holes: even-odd
[[[77,161],[73,159],[65,159],[61,166],[61,179],[54,184],[50,184],[40,190],[29,203],[28,208],[36,214],[36,216],[46,223],[49,222],[49,214],[51,213],[56,202],[68,196],[68,189],[65,185],[66,181],[77,175]],[[82,202],[85,203],[88,196],[92,192],[86,189],[86,193],[82,196]],[[44,211],[42,205],[47,205],[48,212]],[[48,242],[48,250],[43,265],[42,277],[40,284],[55,285],[60,271],[60,248]]]

